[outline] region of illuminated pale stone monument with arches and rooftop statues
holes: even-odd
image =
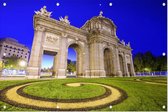
[[[53,76],[66,78],[67,53],[77,53],[78,77],[134,76],[132,49],[116,36],[116,26],[100,12],[81,28],[70,25],[68,16],[55,20],[46,7],[34,16],[34,40],[28,78],[39,78],[43,54],[54,56]]]

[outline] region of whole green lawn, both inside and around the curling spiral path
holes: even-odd
[[[135,79],[141,79],[136,81]],[[0,90],[19,83],[36,80],[0,81]],[[45,98],[60,99],[84,99],[102,95],[105,89],[98,85],[83,85],[80,87],[67,87],[65,83],[72,82],[94,82],[103,83],[119,87],[124,90],[128,98],[123,102],[114,105],[112,108],[106,107],[99,110],[107,111],[166,111],[167,108],[167,78],[166,77],[125,77],[125,78],[74,78],[74,79],[54,79],[35,83],[23,89],[25,93]],[[146,82],[154,82],[150,84]],[[162,85],[161,85],[162,84]],[[6,106],[4,109],[3,106]],[[0,102],[0,110],[32,110],[27,108],[14,107],[4,102]]]

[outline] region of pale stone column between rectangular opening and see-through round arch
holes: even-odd
[[[66,68],[67,68],[67,38],[62,36],[60,38],[60,50],[58,52],[58,72],[57,78],[66,78]]]

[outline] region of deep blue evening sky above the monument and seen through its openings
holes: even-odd
[[[118,38],[131,43],[133,54],[151,51],[158,56],[167,51],[166,0],[0,0],[0,38],[15,38],[31,49],[34,11],[44,5],[52,18],[68,15],[78,28],[102,10],[116,24]],[[69,52],[68,58],[75,60],[74,51]],[[43,58],[42,66],[51,66],[52,58]]]

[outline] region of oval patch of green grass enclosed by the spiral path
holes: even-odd
[[[84,99],[100,96],[105,93],[105,88],[98,85],[69,87],[63,85],[64,83],[64,80],[45,81],[40,84],[32,84],[23,91],[34,96],[58,99]]]

